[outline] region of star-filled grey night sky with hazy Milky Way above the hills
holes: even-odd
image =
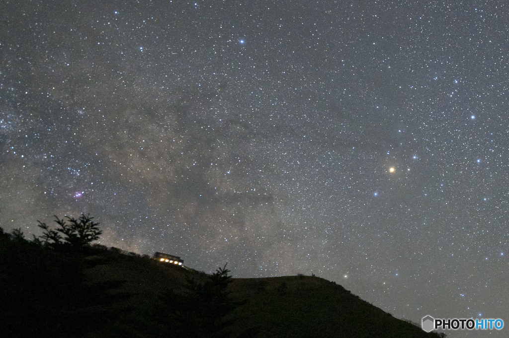
[[[0,4],[0,226],[509,323],[507,5],[196,1]]]

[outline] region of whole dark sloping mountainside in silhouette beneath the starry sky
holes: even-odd
[[[233,279],[0,228],[2,337],[437,337],[315,276]]]

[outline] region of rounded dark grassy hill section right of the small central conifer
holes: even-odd
[[[312,276],[237,279],[248,302],[230,316],[232,336],[436,337],[392,317],[342,286]]]

